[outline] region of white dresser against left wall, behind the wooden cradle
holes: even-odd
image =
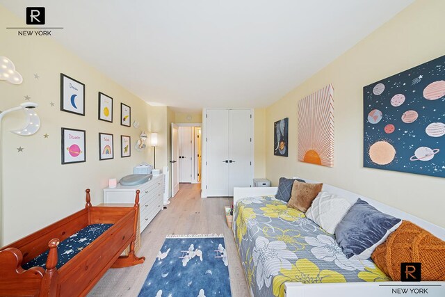
[[[139,190],[140,232],[153,220],[163,207],[164,192],[163,175],[153,175],[145,184],[104,188],[104,203],[134,204],[136,190]]]

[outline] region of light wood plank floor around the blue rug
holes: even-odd
[[[141,234],[139,257],[144,264],[129,268],[108,269],[88,296],[138,296],[147,274],[167,234],[224,234],[229,255],[232,296],[248,297],[248,286],[238,256],[232,230],[225,222],[224,207],[232,198],[201,198],[200,184],[181,184],[175,198]],[[151,297],[151,296],[150,296]],[[187,297],[187,296],[184,296]]]

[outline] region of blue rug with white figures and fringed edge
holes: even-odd
[[[139,296],[232,296],[224,237],[167,236]]]

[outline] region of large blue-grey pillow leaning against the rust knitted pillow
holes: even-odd
[[[335,228],[335,236],[348,259],[368,259],[401,223],[359,198]]]

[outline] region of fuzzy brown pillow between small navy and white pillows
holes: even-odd
[[[320,193],[321,188],[323,188],[323,184],[307,184],[296,180],[293,182],[291,199],[287,202],[287,206],[306,212]]]

